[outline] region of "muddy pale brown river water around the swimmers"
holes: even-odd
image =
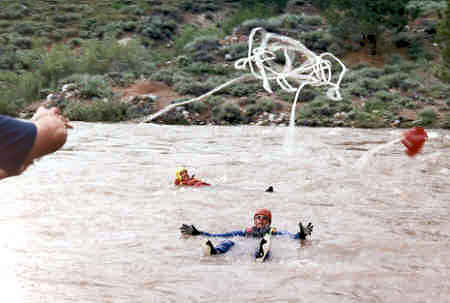
[[[449,131],[409,158],[398,129],[73,124],[0,182],[2,302],[450,300]],[[176,188],[179,166],[213,186]],[[204,256],[178,230],[243,229],[261,207],[312,237],[274,238],[261,264],[256,240]]]

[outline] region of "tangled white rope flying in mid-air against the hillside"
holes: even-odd
[[[254,38],[258,31],[262,34],[261,44],[259,47],[253,48]],[[275,59],[277,58],[277,51],[282,51],[284,55],[284,66],[281,66],[275,62]],[[302,56],[304,61],[299,67],[294,67],[295,55],[297,53]],[[334,59],[341,67],[341,71],[336,82],[332,82],[332,64],[329,60],[324,59],[326,56]],[[347,71],[345,65],[333,54],[324,53],[317,56],[302,43],[289,37],[266,32],[260,27],[254,28],[250,33],[248,39],[248,56],[246,58],[236,60],[234,66],[236,69],[240,70],[247,69],[248,66],[251,74],[256,79],[262,80],[264,89],[271,94],[273,94],[273,91],[270,86],[270,81],[273,80],[278,83],[281,89],[290,93],[295,92],[294,103],[291,111],[291,124],[294,119],[295,105],[303,87],[308,84],[311,86],[331,86],[327,91],[328,98],[332,100],[341,100],[342,97],[339,92],[339,85],[345,72]],[[248,74],[230,80],[199,97],[168,105],[162,110],[147,117],[143,120],[143,123],[150,122],[177,106],[201,100],[233,82],[242,80],[247,76]]]

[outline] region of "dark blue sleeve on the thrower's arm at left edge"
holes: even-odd
[[[15,175],[36,140],[34,123],[0,115],[0,169]]]

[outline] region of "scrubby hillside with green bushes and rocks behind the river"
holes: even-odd
[[[449,128],[450,86],[435,76],[446,2],[410,2],[418,18],[386,31],[373,55],[367,37],[339,36],[314,1],[2,1],[0,113],[26,116],[47,102],[72,120],[140,121],[244,74],[234,62],[247,55],[250,31],[263,27],[349,68],[342,101],[302,90],[297,125]],[[155,122],[286,124],[293,100],[240,81]]]

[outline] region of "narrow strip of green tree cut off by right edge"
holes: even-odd
[[[439,77],[442,81],[450,81],[450,0],[447,0],[447,9],[439,23],[438,36],[441,44],[441,66]]]

